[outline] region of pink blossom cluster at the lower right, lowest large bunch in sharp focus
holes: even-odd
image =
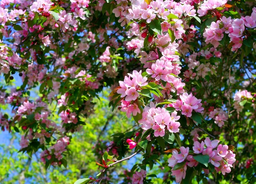
[[[218,144],[218,140],[211,141],[206,138],[205,141],[199,143],[194,142],[194,154],[209,155],[209,163],[211,163],[217,172],[221,171],[223,175],[230,173],[232,164],[235,163],[236,155],[228,149],[227,145]],[[186,168],[196,167],[198,161],[194,159],[195,155],[189,154],[189,147],[180,147],[180,150],[172,150],[172,157],[168,159],[169,166],[172,167],[172,175],[176,177],[176,182],[179,183],[186,176]],[[174,170],[177,163],[185,162],[181,169]],[[209,173],[209,171],[208,171]]]

